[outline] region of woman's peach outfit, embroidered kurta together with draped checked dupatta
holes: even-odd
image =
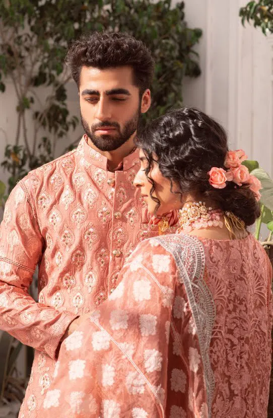
[[[63,341],[39,416],[266,418],[271,274],[251,235],[144,241]]]

